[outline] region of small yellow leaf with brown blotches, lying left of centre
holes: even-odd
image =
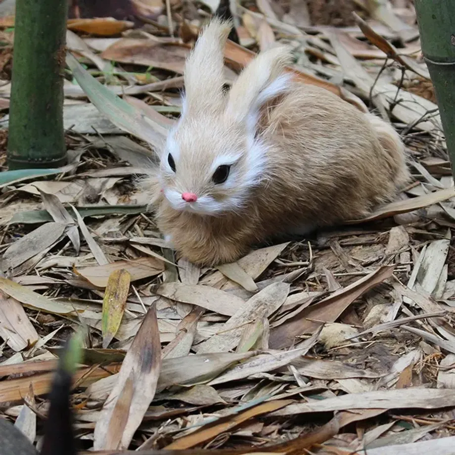
[[[130,291],[131,275],[125,269],[114,270],[107,280],[103,298],[102,336],[106,349],[122,321]]]

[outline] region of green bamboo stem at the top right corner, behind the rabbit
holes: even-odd
[[[455,3],[414,0],[414,6],[455,181]]]

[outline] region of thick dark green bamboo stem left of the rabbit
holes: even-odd
[[[66,164],[63,69],[68,0],[17,0],[9,169]]]

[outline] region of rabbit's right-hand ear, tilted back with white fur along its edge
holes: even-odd
[[[292,74],[283,73],[292,58],[286,46],[261,52],[240,73],[232,85],[226,113],[237,122],[246,122],[248,133],[254,135],[261,106],[289,88]]]

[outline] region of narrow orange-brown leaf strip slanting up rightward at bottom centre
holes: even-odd
[[[252,417],[273,412],[274,410],[283,408],[290,403],[292,403],[292,400],[270,401],[255,406],[254,408],[247,409],[234,416],[229,415],[226,418],[217,420],[214,424],[208,424],[205,427],[202,427],[200,430],[195,431],[194,433],[183,436],[177,441],[174,441],[173,443],[166,446],[164,450],[183,450],[188,449],[189,447],[194,447],[198,444],[215,438],[221,433],[227,432],[232,428],[237,427]]]

